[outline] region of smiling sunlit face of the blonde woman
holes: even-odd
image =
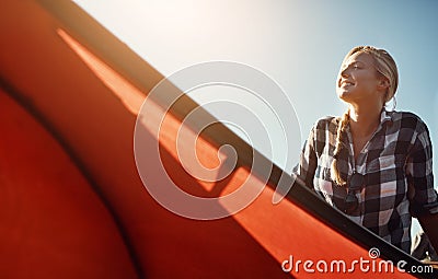
[[[366,53],[356,53],[342,65],[337,75],[336,93],[347,103],[360,104],[382,98],[378,91],[380,79],[373,58]]]

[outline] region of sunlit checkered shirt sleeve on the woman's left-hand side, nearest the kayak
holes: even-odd
[[[314,133],[315,127],[313,126],[302,148],[300,162],[292,171],[292,175],[311,189],[313,189],[313,177],[318,165],[314,151]]]

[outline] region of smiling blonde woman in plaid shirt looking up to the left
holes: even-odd
[[[333,207],[408,253],[412,217],[438,247],[438,201],[426,125],[412,113],[385,109],[397,83],[396,65],[385,50],[353,48],[336,83],[348,111],[316,121],[295,174]]]

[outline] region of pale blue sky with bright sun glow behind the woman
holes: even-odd
[[[298,118],[292,142],[285,140],[281,124],[273,115],[257,111],[256,101],[243,94],[235,102],[252,106],[264,118],[270,143],[254,146],[287,172],[298,162],[311,126],[323,116],[346,111],[335,94],[346,53],[357,45],[384,48],[399,67],[396,109],[413,112],[427,124],[434,154],[438,154],[438,1],[74,2],[166,77],[208,61],[239,62],[269,77],[283,89]],[[219,90],[224,89],[210,89],[210,94],[200,90],[191,96],[208,103],[221,94]],[[227,117],[227,109],[218,111],[219,119]],[[438,173],[438,155],[434,172]]]

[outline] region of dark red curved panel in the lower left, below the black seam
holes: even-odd
[[[137,278],[90,184],[2,90],[0,220],[0,278]]]

